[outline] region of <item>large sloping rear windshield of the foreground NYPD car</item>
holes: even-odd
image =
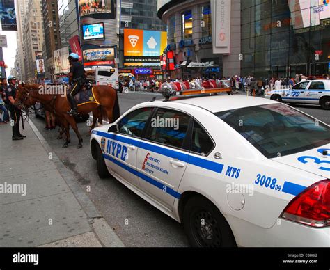
[[[214,113],[267,158],[330,143],[330,127],[284,104],[251,106]]]

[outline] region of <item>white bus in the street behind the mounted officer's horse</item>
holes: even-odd
[[[112,67],[97,67],[86,70],[87,79],[95,81],[97,86],[111,86],[118,90],[118,69]]]

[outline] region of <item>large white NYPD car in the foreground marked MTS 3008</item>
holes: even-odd
[[[93,129],[91,154],[191,246],[330,246],[330,127],[286,104],[145,102]]]

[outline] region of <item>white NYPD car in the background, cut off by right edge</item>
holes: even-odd
[[[320,104],[330,109],[330,80],[301,81],[290,89],[272,90],[265,97],[279,102]]]

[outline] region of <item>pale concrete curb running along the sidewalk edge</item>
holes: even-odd
[[[41,145],[47,152],[52,152],[52,161],[54,162],[58,172],[61,174],[65,182],[68,184],[70,190],[72,191],[74,197],[78,200],[82,209],[86,213],[88,219],[91,220],[90,223],[93,224],[92,229],[97,235],[98,239],[102,242],[103,246],[112,246],[112,247],[123,247],[125,246],[123,242],[120,240],[118,235],[113,231],[110,225],[105,221],[95,208],[95,205],[91,201],[90,198],[86,195],[86,193],[81,189],[81,186],[76,182],[74,173],[71,170],[66,168],[62,163],[61,159],[59,159],[56,153],[52,150],[52,147],[47,143],[45,138],[39,132],[36,125],[33,124],[32,120],[29,119],[29,125],[31,126],[32,131],[36,134],[38,140]],[[102,221],[100,225],[100,221]],[[97,225],[95,225],[97,223]]]

